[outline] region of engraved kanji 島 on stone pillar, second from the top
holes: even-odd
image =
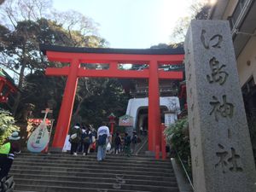
[[[226,67],[225,65],[220,66],[219,61],[213,56],[212,59],[209,61],[212,73],[211,76],[207,75],[207,80],[210,84],[213,82],[218,82],[220,85],[224,84],[227,77],[229,76],[228,73],[223,71],[223,68]]]

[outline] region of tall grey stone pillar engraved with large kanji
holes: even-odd
[[[192,20],[184,49],[195,192],[256,191],[228,21]]]

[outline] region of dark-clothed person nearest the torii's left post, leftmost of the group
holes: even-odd
[[[81,135],[82,135],[82,131],[80,129],[80,125],[79,124],[74,125],[74,127],[70,131],[70,138],[69,138],[69,142],[71,143],[70,154],[73,154],[75,156],[78,155],[77,151],[79,149],[79,143],[81,143]]]

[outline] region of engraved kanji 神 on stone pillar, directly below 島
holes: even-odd
[[[233,117],[233,111],[234,111],[234,105],[230,102],[226,101],[227,96],[222,96],[223,98],[223,104],[218,102],[218,98],[216,96],[212,96],[212,99],[214,102],[210,102],[210,105],[213,106],[212,111],[210,112],[210,115],[214,112],[215,120],[218,121],[218,113],[226,118],[226,117]]]

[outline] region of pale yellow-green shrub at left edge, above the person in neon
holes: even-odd
[[[11,135],[13,131],[19,131],[20,128],[15,125],[15,119],[8,111],[0,108],[0,145]]]

